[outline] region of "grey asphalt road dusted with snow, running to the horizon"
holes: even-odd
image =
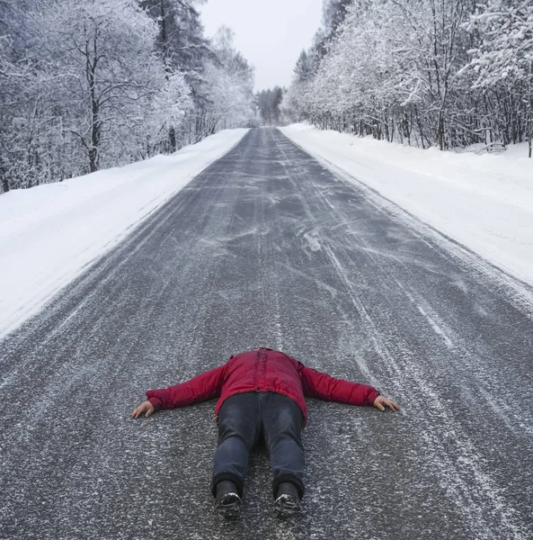
[[[0,343],[0,538],[533,538],[532,330],[512,280],[251,130]],[[214,401],[129,413],[259,345],[403,408],[309,400],[302,515],[260,447],[227,524]]]

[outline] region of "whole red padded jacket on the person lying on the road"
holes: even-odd
[[[335,379],[315,371],[280,351],[259,348],[231,356],[225,365],[200,374],[191,381],[148,390],[154,409],[184,407],[218,398],[215,414],[227,398],[241,392],[277,392],[296,401],[307,419],[304,396],[350,405],[373,405],[379,392],[367,384]]]

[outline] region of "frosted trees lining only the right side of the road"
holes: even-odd
[[[422,148],[533,130],[533,0],[324,0],[295,67],[293,121]]]

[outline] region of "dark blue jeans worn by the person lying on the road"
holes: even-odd
[[[264,436],[271,457],[274,497],[281,482],[293,482],[304,496],[302,411],[295,401],[275,392],[244,392],[227,398],[218,412],[218,448],[213,460],[211,491],[217,483],[234,482],[243,495],[250,450]]]

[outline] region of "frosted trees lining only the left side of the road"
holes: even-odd
[[[169,153],[254,118],[202,0],[0,0],[1,191]]]

